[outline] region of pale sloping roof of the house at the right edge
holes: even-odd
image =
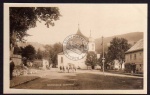
[[[143,50],[143,39],[139,40],[136,44],[134,44],[126,53],[135,52]]]

